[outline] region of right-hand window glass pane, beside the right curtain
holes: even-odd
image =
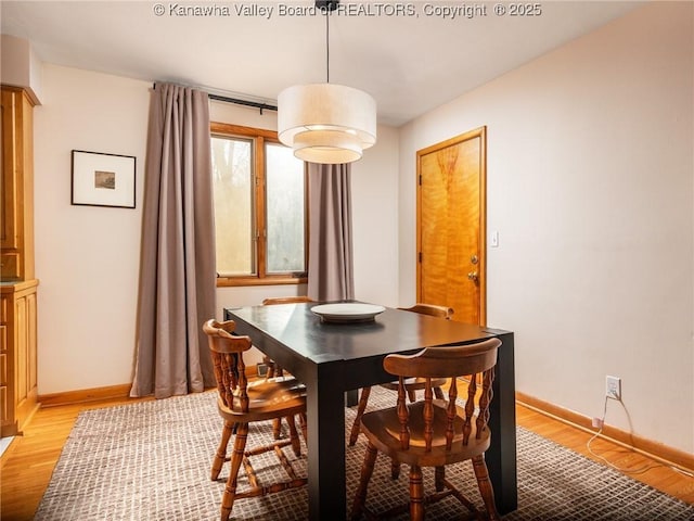
[[[266,145],[268,274],[304,272],[304,162],[292,149]]]

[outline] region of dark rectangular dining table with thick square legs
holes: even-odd
[[[391,353],[470,344],[492,336],[499,348],[486,453],[497,508],[517,507],[513,332],[386,308],[372,321],[332,323],[311,312],[317,303],[226,308],[235,333],[248,335],[307,387],[309,519],[346,519],[345,396],[393,380],[383,369]],[[342,412],[340,412],[342,411]]]

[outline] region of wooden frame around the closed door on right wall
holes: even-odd
[[[487,325],[487,127],[481,126],[416,152],[416,301],[422,297],[422,156],[479,138],[479,326]]]

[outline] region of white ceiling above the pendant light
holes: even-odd
[[[538,3],[539,15],[511,16],[481,1],[342,3],[329,21],[330,81],[372,94],[378,123],[394,126],[640,4],[553,0]],[[192,15],[194,7],[213,15]],[[285,87],[325,81],[326,21],[312,7],[310,0],[0,0],[0,21],[2,34],[28,39],[44,62],[274,103]],[[472,11],[451,11],[457,7]]]

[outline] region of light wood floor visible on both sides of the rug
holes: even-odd
[[[132,399],[102,401],[89,405],[39,409],[25,429],[24,435],[13,441],[0,460],[2,497],[0,519],[3,521],[33,519],[61,449],[80,410],[128,402]],[[516,416],[519,425],[591,459],[596,459],[586,448],[591,437],[589,433],[520,405],[516,407]],[[591,448],[594,453],[604,456],[612,465],[639,471],[638,473],[625,472],[627,475],[694,504],[694,478],[602,440],[595,440]]]

